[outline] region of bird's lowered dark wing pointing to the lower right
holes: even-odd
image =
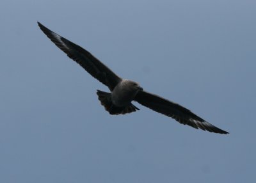
[[[189,109],[186,109],[179,104],[175,104],[174,102],[152,93],[140,91],[134,100],[139,102],[141,105],[146,106],[158,113],[162,113],[163,115],[169,116],[184,125],[190,125],[196,129],[200,128],[204,131],[228,134],[228,132],[215,127],[211,123],[205,122],[205,120],[199,116],[196,116],[194,113],[189,111]]]

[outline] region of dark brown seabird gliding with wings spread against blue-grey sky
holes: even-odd
[[[69,58],[81,65],[81,67],[95,77],[95,79],[108,86],[110,92],[97,90],[97,95],[100,103],[110,115],[124,115],[140,110],[132,104],[132,101],[136,101],[141,105],[148,107],[157,113],[169,116],[184,125],[190,125],[191,127],[202,129],[204,131],[228,134],[228,132],[215,127],[211,123],[208,123],[195,115],[189,111],[189,109],[164,99],[163,97],[159,97],[158,95],[146,92],[137,82],[117,76],[90,52],[54,33],[40,24],[40,22],[38,22],[38,26],[57,47],[67,54]]]

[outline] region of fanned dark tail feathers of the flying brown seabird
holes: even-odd
[[[110,115],[124,115],[126,113],[132,113],[136,110],[140,110],[138,107],[130,104],[125,107],[117,107],[111,101],[111,93],[102,92],[97,90],[98,99],[100,100],[100,104],[105,107],[106,111],[109,112]]]

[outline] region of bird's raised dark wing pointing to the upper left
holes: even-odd
[[[38,22],[38,26],[69,58],[79,63],[89,74],[108,86],[109,90],[112,91],[116,84],[121,81],[120,77],[116,76],[114,72],[90,54],[90,52],[54,33],[50,29],[45,28],[40,22]]]

